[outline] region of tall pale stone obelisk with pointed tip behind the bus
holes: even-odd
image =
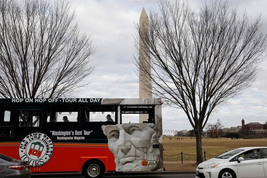
[[[150,54],[144,49],[147,43],[143,40],[149,36],[148,16],[144,7],[139,19],[139,29],[139,98],[152,98]],[[139,114],[139,123],[147,119],[148,115]]]

